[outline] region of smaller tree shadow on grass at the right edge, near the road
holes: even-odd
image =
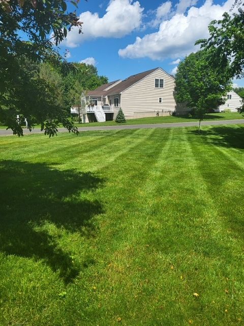
[[[189,133],[197,134],[198,130]],[[244,149],[244,127],[238,126],[212,126],[201,130],[200,135],[206,136],[206,142],[223,147]]]

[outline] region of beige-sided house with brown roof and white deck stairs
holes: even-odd
[[[82,122],[114,120],[120,107],[126,119],[170,115],[176,111],[174,83],[174,76],[155,68],[87,91]]]

